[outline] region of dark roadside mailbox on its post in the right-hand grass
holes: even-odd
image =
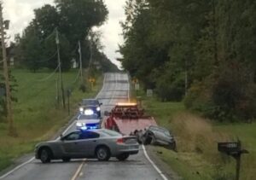
[[[241,154],[248,154],[245,149],[241,149],[241,142],[218,142],[218,151],[228,154],[236,160],[236,180],[240,177]]]

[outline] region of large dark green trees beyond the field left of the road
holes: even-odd
[[[79,41],[83,67],[88,67],[90,54],[102,64],[104,71],[114,68],[102,53],[100,33],[92,32],[94,26],[102,26],[108,19],[108,9],[102,0],[55,0],[55,5],[46,4],[34,10],[34,19],[22,35],[15,37],[15,59],[21,67],[33,72],[58,66],[56,31],[59,33],[61,67],[71,68],[72,60],[79,63]],[[98,36],[98,37],[97,37]]]

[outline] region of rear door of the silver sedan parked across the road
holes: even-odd
[[[93,157],[95,155],[95,148],[99,140],[99,134],[93,131],[84,131],[76,144],[78,154],[80,157]]]

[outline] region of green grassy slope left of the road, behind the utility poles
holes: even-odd
[[[78,109],[82,98],[94,97],[102,86],[102,77],[97,80],[94,90],[83,93],[79,83],[73,83],[77,71],[63,73],[65,90],[73,90],[70,97],[71,114],[56,103],[57,75],[49,77],[50,72],[31,73],[26,70],[13,70],[18,84],[14,96],[18,102],[14,106],[14,122],[17,137],[8,136],[8,125],[0,121],[0,171],[11,165],[22,154],[32,152],[37,142],[47,140],[67,124]]]

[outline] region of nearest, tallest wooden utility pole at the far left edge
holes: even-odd
[[[0,1],[0,28],[1,28],[1,42],[2,42],[2,51],[3,51],[3,76],[5,79],[5,93],[6,93],[6,107],[7,107],[7,119],[9,123],[9,136],[17,136],[14,119],[13,119],[13,109],[11,101],[11,92],[9,85],[9,68],[7,63],[6,47],[5,47],[5,37],[4,37],[4,26],[3,26],[3,6]]]

